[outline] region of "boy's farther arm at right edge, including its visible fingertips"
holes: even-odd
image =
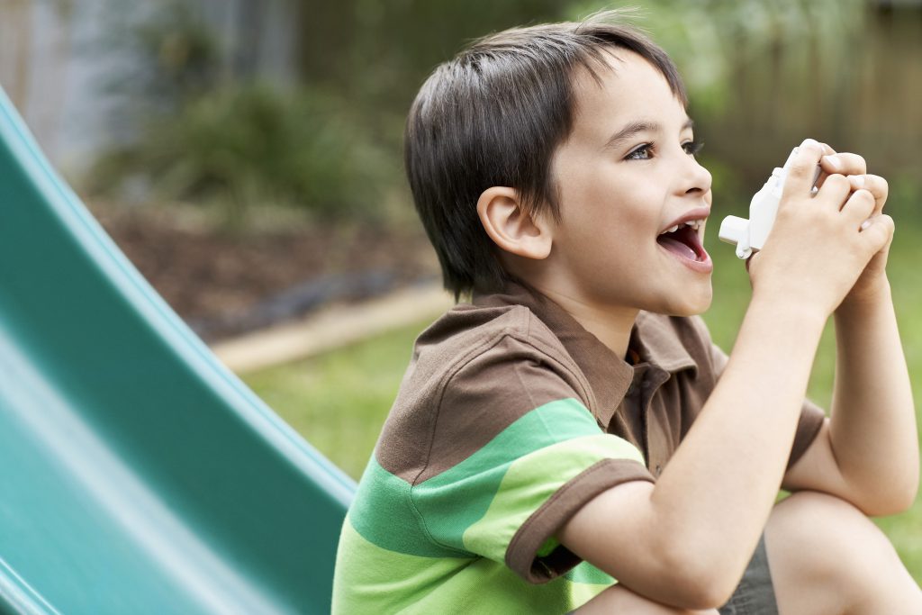
[[[859,157],[840,159],[843,172],[864,173]],[[887,183],[862,176],[880,214]],[[832,419],[784,481],[788,490],[831,493],[866,514],[905,510],[919,480],[916,412],[885,272],[889,248],[890,242],[874,255],[835,311]]]

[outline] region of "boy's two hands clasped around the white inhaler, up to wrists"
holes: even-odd
[[[859,182],[842,172],[865,171],[864,160],[853,154],[824,158],[833,153],[811,139],[800,146],[774,229],[762,251],[751,258],[753,299],[794,299],[802,308],[819,309],[818,315],[825,318],[846,295],[864,298],[885,286],[882,272],[893,231],[892,219],[880,213],[886,183],[876,176],[854,173],[865,180],[864,187],[857,187]],[[818,163],[827,174],[816,195],[811,195]]]

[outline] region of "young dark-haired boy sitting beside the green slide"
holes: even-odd
[[[409,181],[472,302],[417,341],[335,612],[922,613],[866,517],[918,483],[887,184],[800,146],[727,358],[695,316],[712,195],[686,103],[610,13],[492,35],[420,89]],[[825,419],[804,395],[831,314]]]

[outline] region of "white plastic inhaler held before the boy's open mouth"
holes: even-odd
[[[775,167],[772,176],[762,186],[762,190],[752,196],[750,219],[727,216],[720,223],[720,231],[717,235],[723,242],[736,244],[739,258],[743,260],[749,258],[753,252],[761,250],[765,244],[768,233],[774,225],[774,217],[778,213],[778,202],[785,189],[787,171],[797,153],[798,148],[792,149],[785,161],[785,166],[780,169]],[[816,183],[819,177],[820,165],[817,165],[812,183]]]

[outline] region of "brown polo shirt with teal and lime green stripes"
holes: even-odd
[[[334,613],[563,613],[615,583],[555,533],[656,481],[727,362],[700,318],[653,313],[629,355],[516,284],[426,329],[343,524]],[[822,420],[805,402],[789,464]]]

